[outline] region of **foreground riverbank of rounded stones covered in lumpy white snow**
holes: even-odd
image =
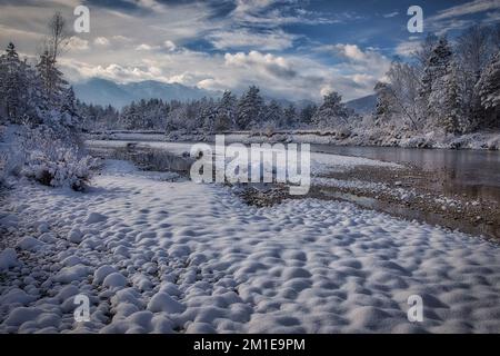
[[[0,332],[500,332],[497,245],[348,202],[256,208],[152,178],[108,161],[86,194],[14,188]],[[77,294],[88,323],[73,319]],[[407,319],[410,295],[422,323]]]

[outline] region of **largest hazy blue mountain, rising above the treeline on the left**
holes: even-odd
[[[73,89],[77,98],[83,102],[102,106],[111,103],[117,108],[121,108],[132,100],[138,101],[140,99],[158,98],[167,101],[187,101],[203,97],[220,96],[217,91],[154,80],[120,85],[107,79],[92,78],[88,81],[73,85]]]

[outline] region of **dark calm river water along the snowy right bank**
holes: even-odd
[[[444,194],[468,194],[500,202],[500,152],[482,150],[414,149],[399,147],[340,147],[312,145],[312,150],[410,164],[432,171]]]

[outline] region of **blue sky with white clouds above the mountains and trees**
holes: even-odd
[[[418,2],[418,3],[417,3]],[[40,50],[48,19],[90,10],[90,32],[74,33],[60,58],[73,82],[158,80],[240,92],[346,100],[372,92],[394,56],[408,57],[429,32],[451,39],[474,24],[500,22],[500,0],[473,1],[160,1],[0,0],[0,46]],[[423,9],[423,33],[410,33],[407,10]]]

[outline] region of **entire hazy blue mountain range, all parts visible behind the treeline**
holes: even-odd
[[[196,87],[188,87],[180,83],[166,83],[156,80],[144,80],[120,85],[111,80],[92,78],[88,81],[73,85],[74,93],[78,99],[93,105],[112,105],[116,108],[122,108],[131,101],[141,99],[158,98],[166,101],[170,100],[196,100],[203,97],[217,98],[221,92],[204,90]],[[266,97],[266,101],[273,98]],[[310,100],[290,101],[287,99],[276,99],[281,106],[286,107],[293,103],[299,110],[303,107],[314,103]],[[377,103],[377,97],[368,96],[346,102],[346,105],[358,113],[371,112]]]

